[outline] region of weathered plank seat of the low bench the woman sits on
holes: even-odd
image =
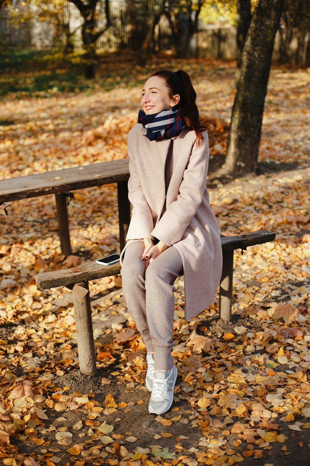
[[[237,236],[222,236],[222,250],[223,253],[225,253],[239,248],[246,249],[248,246],[274,240],[275,237],[276,233],[268,231],[259,231]],[[86,264],[74,268],[38,274],[35,276],[35,280],[40,289],[49,289],[72,285],[81,281],[96,280],[102,277],[117,275],[120,272],[120,268],[119,262],[108,266],[103,266],[96,262],[87,262]]]

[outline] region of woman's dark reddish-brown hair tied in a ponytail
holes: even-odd
[[[176,73],[169,70],[156,71],[152,76],[158,76],[165,80],[169,97],[172,98],[172,96],[179,94],[180,117],[185,120],[187,128],[195,131],[197,144],[200,145],[200,141],[203,139],[201,132],[208,128],[208,119],[199,116],[196,105],[197,94],[189,75],[186,71],[179,69]]]

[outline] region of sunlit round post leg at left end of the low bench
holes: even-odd
[[[79,370],[83,374],[94,376],[97,374],[97,369],[88,281],[76,283],[72,294],[78,340]]]

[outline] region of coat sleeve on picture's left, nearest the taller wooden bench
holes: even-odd
[[[134,137],[134,136],[133,136]],[[150,206],[146,202],[139,181],[137,161],[132,136],[128,135],[129,173],[128,199],[132,204],[132,218],[128,227],[126,241],[150,238],[153,229],[153,218]]]

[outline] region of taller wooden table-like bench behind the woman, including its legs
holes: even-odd
[[[8,215],[10,202],[46,194],[55,194],[61,252],[72,254],[67,204],[71,191],[93,186],[117,183],[119,204],[119,243],[123,249],[130,222],[130,202],[127,182],[129,159],[112,160],[63,170],[47,171],[35,175],[0,180],[0,213]]]

